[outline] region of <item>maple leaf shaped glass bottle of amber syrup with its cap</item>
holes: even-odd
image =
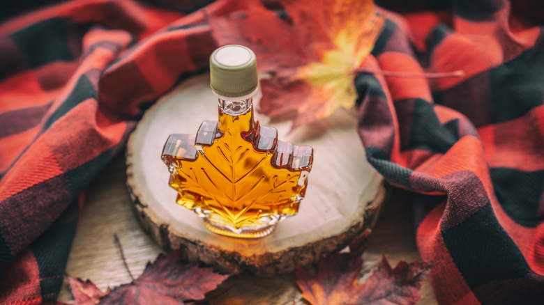
[[[240,45],[216,49],[210,79],[219,120],[196,136],[171,134],[162,159],[177,203],[194,210],[214,233],[258,238],[294,216],[304,198],[313,150],[278,141],[278,131],[253,117],[255,54]]]

